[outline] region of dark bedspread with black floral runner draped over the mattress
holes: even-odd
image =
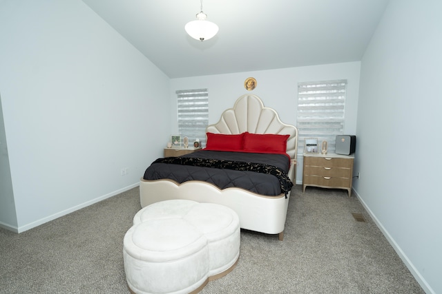
[[[203,150],[182,157],[158,158],[146,169],[144,179],[171,178],[177,182],[206,180],[220,189],[243,187],[262,195],[276,196],[284,193],[287,196],[293,183],[285,171],[288,171],[289,162],[286,164],[288,159],[284,157],[286,156],[281,157],[280,154],[238,154]],[[237,158],[240,160],[232,160]],[[269,161],[275,165],[265,163]],[[228,181],[233,184],[227,184]],[[279,187],[272,188],[272,185]]]

